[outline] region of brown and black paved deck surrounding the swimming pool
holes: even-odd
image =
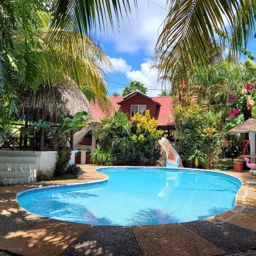
[[[106,178],[95,171],[98,166],[81,167],[83,174],[75,180],[0,187],[0,256],[256,255],[256,185],[243,184],[233,210],[181,224],[92,226],[40,217],[19,207],[16,193],[25,189]],[[251,180],[249,173],[224,173]]]

